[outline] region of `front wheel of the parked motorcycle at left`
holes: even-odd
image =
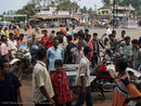
[[[22,75],[23,75],[22,67],[23,67],[22,63],[15,63],[10,69],[11,71],[13,71],[16,75],[18,80],[22,80]]]

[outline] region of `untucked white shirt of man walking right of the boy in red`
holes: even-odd
[[[86,56],[84,56],[79,63],[76,82],[75,82],[76,85],[81,87],[80,77],[82,76],[85,77],[85,87],[89,87],[90,85],[90,62]]]

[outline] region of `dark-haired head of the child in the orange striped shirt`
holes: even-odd
[[[128,62],[124,57],[117,57],[115,61],[115,69],[117,72],[124,72],[128,67]]]

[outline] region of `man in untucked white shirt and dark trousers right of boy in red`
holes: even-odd
[[[91,89],[90,89],[90,57],[91,49],[86,47],[84,49],[85,56],[81,58],[76,77],[76,85],[80,88],[79,97],[75,106],[82,106],[85,101],[87,106],[92,106]]]

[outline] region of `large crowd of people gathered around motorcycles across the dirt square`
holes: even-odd
[[[20,90],[22,84],[17,77],[9,71],[9,62],[15,57],[16,50],[22,44],[28,45],[29,49],[34,45],[41,45],[37,52],[38,61],[33,70],[35,106],[53,104],[55,106],[73,106],[73,95],[63,64],[79,64],[75,84],[79,87],[80,92],[75,106],[82,106],[85,101],[87,106],[92,106],[90,67],[98,65],[101,49],[123,55],[115,62],[115,69],[119,75],[112,106],[125,106],[128,95],[141,96],[141,93],[130,83],[130,77],[125,71],[127,67],[140,71],[141,38],[131,40],[125,30],[121,31],[121,36],[117,36],[116,30],[112,31],[108,26],[102,38],[99,38],[97,32],[90,35],[89,29],[76,31],[75,26],[73,26],[72,32],[69,28],[61,28],[56,32],[52,30],[50,35],[48,30],[42,30],[41,39],[37,39],[36,34],[33,34],[33,38],[28,42],[24,39],[25,35],[20,34],[16,27],[14,34],[7,34],[0,28],[1,106],[10,106],[13,103],[23,105]],[[12,106],[15,105],[17,106],[17,104]]]

